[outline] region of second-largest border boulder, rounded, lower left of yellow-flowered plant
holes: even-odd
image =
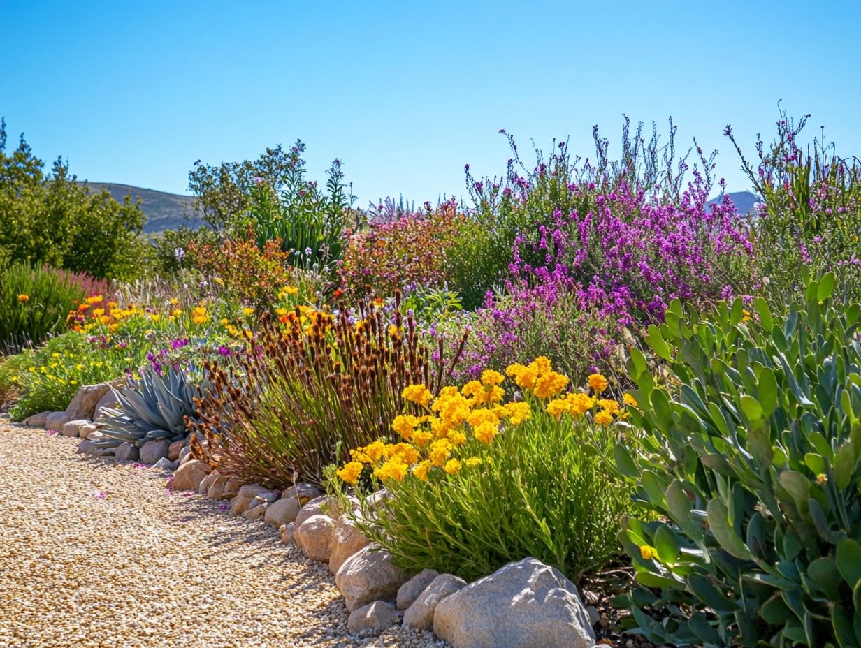
[[[392,554],[372,544],[360,549],[335,575],[335,584],[344,596],[347,610],[352,612],[373,601],[394,601],[398,589],[409,579],[405,571],[395,567]]]

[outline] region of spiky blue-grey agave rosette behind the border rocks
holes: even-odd
[[[140,378],[129,378],[125,386],[115,389],[119,409],[106,408],[100,423],[108,437],[98,445],[118,446],[124,442],[140,447],[146,441],[169,439],[179,441],[187,434],[186,418],[194,419],[195,398],[208,392],[207,380],[200,386],[189,380],[194,369],[167,367],[157,373],[147,367]]]

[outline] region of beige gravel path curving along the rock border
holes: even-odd
[[[0,420],[0,646],[421,646],[351,635],[327,567],[275,528]]]

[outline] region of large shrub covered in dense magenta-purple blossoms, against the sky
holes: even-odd
[[[610,161],[596,131],[594,161],[572,159],[562,142],[546,159],[536,151],[532,170],[508,136],[507,175],[468,176],[475,222],[511,241],[507,255],[493,253],[505,273],[492,292],[486,286],[472,322],[470,375],[536,355],[573,379],[590,367],[610,371],[614,354],[624,355],[620,343],[662,319],[672,299],[707,309],[753,289],[749,227],[727,196],[709,205],[714,154],[697,148],[702,168],[685,183],[687,156],[674,159],[672,122],[670,133],[661,147],[656,133],[648,143],[640,128],[631,137],[626,122],[620,161]]]

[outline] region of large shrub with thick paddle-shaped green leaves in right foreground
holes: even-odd
[[[672,393],[632,352],[646,435],[616,461],[660,520],[620,538],[648,588],[629,601],[647,639],[861,645],[861,307],[833,300],[836,282],[806,282],[781,318],[762,298],[715,321],[674,303],[647,335]]]

